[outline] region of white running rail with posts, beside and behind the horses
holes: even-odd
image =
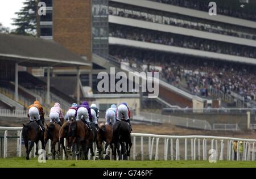
[[[16,146],[17,156],[22,157],[22,133],[20,132],[22,127],[0,127],[0,131],[1,130],[5,131],[3,157],[7,157],[8,131],[18,131]],[[217,160],[234,160],[234,155],[236,155],[233,150],[234,141],[237,141],[237,143],[243,143],[242,146],[239,144],[237,145],[236,151],[240,151],[241,153],[237,152],[236,160],[255,160],[254,149],[256,140],[253,139],[200,135],[171,136],[137,133],[133,133],[131,136],[133,138],[131,159],[133,160],[138,160],[138,157],[139,160],[208,160],[208,152],[211,149],[216,151]],[[137,139],[139,139],[140,142],[138,142]],[[160,148],[161,146],[163,146],[162,149]]]

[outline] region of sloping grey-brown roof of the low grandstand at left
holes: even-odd
[[[90,66],[90,62],[52,40],[0,34],[0,60],[21,66]]]

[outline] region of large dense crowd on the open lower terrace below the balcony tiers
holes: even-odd
[[[182,88],[187,88],[193,95],[210,96],[210,91],[236,94],[245,101],[256,101],[256,67],[237,63],[214,62],[180,59],[138,58],[131,56],[115,57],[138,71],[158,71],[160,78]]]

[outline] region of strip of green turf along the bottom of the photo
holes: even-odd
[[[75,161],[75,160],[47,160],[46,163],[38,163],[38,160],[32,159],[27,161],[24,158],[0,159],[0,168],[212,168],[212,167],[253,167],[256,168],[256,161],[217,161],[209,163],[208,161]]]

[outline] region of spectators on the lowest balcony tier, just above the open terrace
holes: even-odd
[[[110,26],[109,32],[110,37],[179,46],[208,52],[230,54],[233,56],[256,58],[256,49],[249,46],[235,45],[226,42],[199,39],[197,37],[182,36],[146,29],[129,28],[120,25],[118,25],[118,27]]]

